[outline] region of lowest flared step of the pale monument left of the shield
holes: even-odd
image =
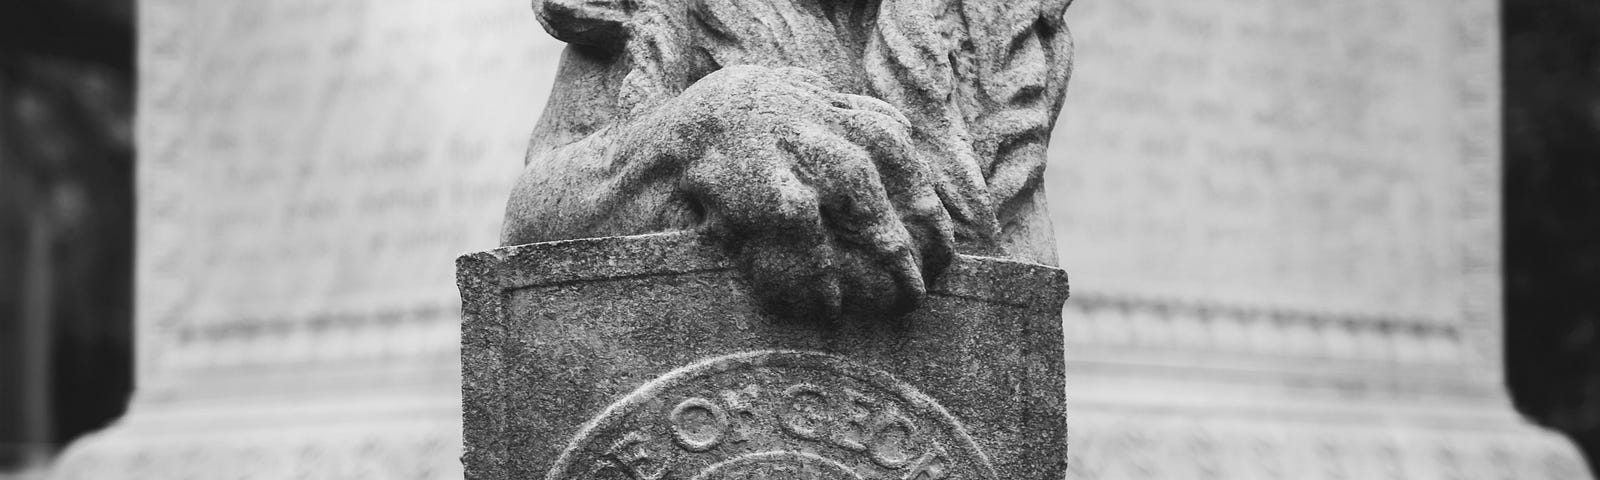
[[[454,395],[134,405],[53,478],[461,478]]]

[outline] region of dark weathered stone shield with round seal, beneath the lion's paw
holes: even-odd
[[[458,266],[467,478],[1064,474],[1058,269],[962,256],[904,318],[824,322],[691,234]]]

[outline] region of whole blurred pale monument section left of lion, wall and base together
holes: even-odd
[[[454,258],[558,43],[486,0],[152,0],[139,37],[138,392],[61,474],[459,477]]]

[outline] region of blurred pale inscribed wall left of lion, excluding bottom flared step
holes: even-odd
[[[557,54],[525,14],[152,2],[141,22],[142,387],[397,358],[451,371],[435,363],[454,355],[453,256],[494,242]]]

